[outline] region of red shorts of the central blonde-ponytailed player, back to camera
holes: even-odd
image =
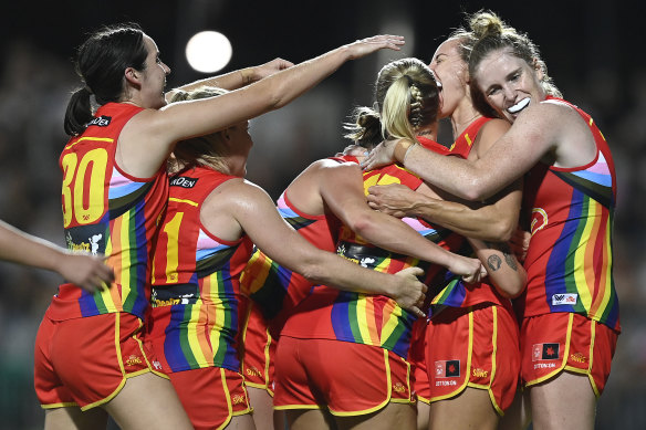
[[[415,402],[410,365],[398,355],[372,345],[281,336],[274,409],[327,408],[335,416],[357,416],[388,402]]]

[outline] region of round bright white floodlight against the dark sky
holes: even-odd
[[[202,73],[213,73],[231,60],[231,42],[217,31],[201,31],[186,44],[186,60],[192,69]]]

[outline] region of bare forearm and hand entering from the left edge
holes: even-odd
[[[0,221],[0,260],[56,272],[90,292],[103,290],[104,282],[114,281],[112,269],[102,259],[71,253],[3,221]]]

